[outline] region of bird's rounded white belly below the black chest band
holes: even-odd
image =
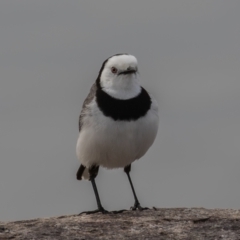
[[[141,158],[152,145],[158,129],[157,106],[137,121],[114,121],[91,104],[77,141],[77,157],[90,167],[120,168]]]

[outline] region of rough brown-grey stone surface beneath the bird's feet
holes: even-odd
[[[240,210],[172,208],[0,222],[0,239],[240,239]]]

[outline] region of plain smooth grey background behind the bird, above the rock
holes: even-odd
[[[78,116],[102,62],[128,52],[160,129],[133,164],[143,206],[240,208],[240,1],[0,1],[0,220],[96,208],[75,179]],[[133,196],[101,169],[108,210]]]

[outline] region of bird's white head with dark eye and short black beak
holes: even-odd
[[[129,99],[141,91],[138,63],[133,55],[116,54],[104,61],[99,73],[102,90],[118,99]]]

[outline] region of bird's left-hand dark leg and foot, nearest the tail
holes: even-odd
[[[98,190],[97,190],[97,186],[96,186],[96,183],[95,183],[95,178],[98,174],[98,169],[99,169],[99,166],[93,166],[89,169],[90,181],[91,181],[92,186],[93,186],[94,194],[95,194],[95,197],[96,197],[96,200],[97,200],[98,209],[94,210],[94,211],[87,211],[87,212],[82,212],[82,213],[86,213],[86,214],[93,214],[93,213],[98,213],[98,212],[101,212],[103,214],[108,213],[108,211],[106,211],[101,204],[100,197],[99,197]],[[82,213],[80,213],[80,214],[82,214]]]

